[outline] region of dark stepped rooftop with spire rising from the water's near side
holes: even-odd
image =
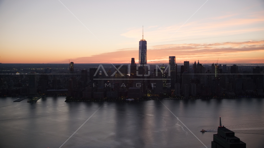
[[[246,143],[240,141],[239,138],[235,136],[235,133],[228,130],[221,124],[217,129],[217,134],[214,134],[214,140],[212,141],[211,148],[245,148]]]

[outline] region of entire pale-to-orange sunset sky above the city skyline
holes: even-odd
[[[201,7],[202,6],[202,7]],[[0,63],[264,63],[263,0],[0,0]]]

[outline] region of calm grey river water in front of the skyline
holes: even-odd
[[[1,148],[211,148],[219,116],[222,125],[236,132],[235,136],[247,147],[264,147],[261,98],[64,102],[65,97],[46,97],[36,103],[15,100],[0,98]],[[201,133],[202,129],[208,132]]]

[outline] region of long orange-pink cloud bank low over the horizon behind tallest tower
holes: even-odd
[[[168,63],[168,56],[176,56],[177,63],[189,60],[204,63],[264,63],[264,40],[247,42],[226,42],[213,44],[168,44],[157,45],[147,50],[148,63]],[[114,52],[70,59],[75,63],[130,63],[138,50],[117,50]],[[52,63],[68,63],[68,59]]]

